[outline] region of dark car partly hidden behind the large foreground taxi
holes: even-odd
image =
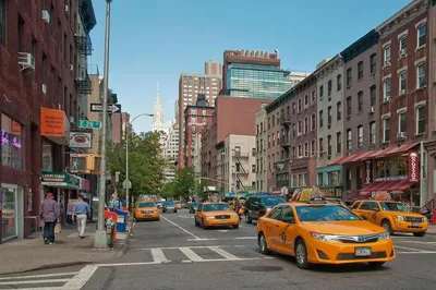
[[[286,200],[275,195],[251,196],[246,198],[244,204],[245,222],[252,223],[253,220],[259,219],[280,203],[286,203]]]

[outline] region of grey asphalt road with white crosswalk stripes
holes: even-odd
[[[181,210],[137,222],[128,252],[113,263],[0,276],[0,289],[435,289],[436,235],[393,240],[398,257],[382,269],[302,270],[291,257],[262,255],[255,223],[203,230]]]

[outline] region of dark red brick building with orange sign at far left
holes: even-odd
[[[0,243],[29,234],[35,222],[26,217],[39,214],[46,192],[65,208],[84,183],[63,173],[77,119],[77,17],[88,32],[95,25],[92,2],[86,11],[77,2],[0,0]]]

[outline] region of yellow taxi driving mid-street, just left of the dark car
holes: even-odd
[[[202,203],[195,212],[195,226],[239,228],[239,216],[227,203]]]

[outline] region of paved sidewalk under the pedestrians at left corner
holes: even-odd
[[[0,244],[0,275],[28,271],[41,268],[105,262],[124,254],[132,220],[128,221],[128,231],[117,233],[117,242],[110,250],[94,250],[94,235],[97,223],[88,223],[85,239],[78,239],[75,225],[63,226],[56,235],[56,244],[44,244],[39,232],[25,240],[12,240]]]

